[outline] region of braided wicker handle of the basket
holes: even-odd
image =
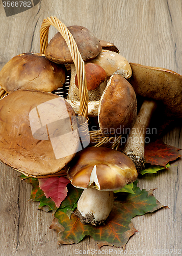
[[[72,60],[75,65],[77,80],[79,83],[79,93],[80,93],[80,111],[79,114],[84,119],[87,119],[88,115],[88,90],[87,90],[87,81],[85,76],[85,63],[82,59],[82,56],[77,48],[76,42],[66,28],[66,26],[56,17],[50,16],[43,20],[43,23],[40,28],[40,52],[45,53],[45,50],[48,45],[48,30],[50,25],[54,26],[63,38],[66,41],[66,44],[70,50]]]

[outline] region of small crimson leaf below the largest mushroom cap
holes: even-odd
[[[67,184],[70,181],[66,177],[50,177],[39,180],[39,187],[44,191],[46,198],[51,198],[59,208],[61,202],[67,196]]]

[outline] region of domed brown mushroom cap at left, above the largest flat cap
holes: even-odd
[[[8,93],[19,90],[51,92],[61,88],[66,68],[39,53],[22,53],[10,59],[0,72],[0,86]]]

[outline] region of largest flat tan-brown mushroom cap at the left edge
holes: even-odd
[[[72,118],[73,109],[62,97],[39,91],[18,90],[0,101],[0,110],[0,159],[4,163],[29,175],[38,176],[59,172],[74,157],[80,142],[77,125]],[[57,128],[60,130],[54,129],[54,119],[57,119]],[[62,132],[64,125],[60,126],[65,121],[69,123],[67,133]],[[37,138],[34,138],[33,130]],[[47,131],[49,139],[45,136]]]

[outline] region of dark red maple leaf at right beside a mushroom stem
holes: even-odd
[[[170,161],[176,160],[181,155],[178,153],[180,148],[169,146],[162,140],[158,139],[155,142],[146,144],[145,160],[146,163],[153,165],[166,166]]]

